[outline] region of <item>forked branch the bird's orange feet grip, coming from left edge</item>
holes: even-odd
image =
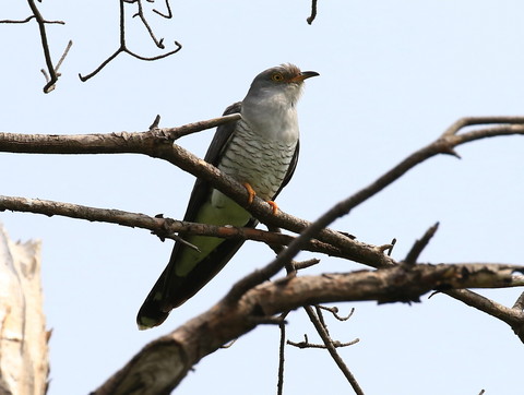
[[[255,198],[254,202],[248,205],[248,193],[243,185],[179,145],[172,144],[172,141],[180,135],[214,128],[236,120],[239,117],[239,115],[231,115],[180,128],[153,129],[152,131],[141,133],[120,132],[82,135],[0,133],[0,152],[29,154],[134,153],[162,158],[195,177],[209,181],[214,188],[226,193],[261,222],[294,232],[302,231],[310,225],[309,222],[283,212],[274,215],[272,208],[259,198]],[[352,256],[353,261],[365,263],[372,267],[383,267],[394,262],[391,258],[385,256],[379,248],[353,240],[350,237],[335,230],[323,229],[318,234],[317,239],[341,249],[344,256]]]

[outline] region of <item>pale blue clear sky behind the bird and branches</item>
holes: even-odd
[[[55,59],[74,45],[57,89],[41,93],[44,65],[35,24],[0,25],[0,131],[105,133],[143,131],[155,115],[176,127],[216,117],[241,99],[254,75],[283,62],[321,76],[307,81],[299,105],[300,160],[278,198],[282,210],[314,219],[371,182],[464,116],[522,115],[524,25],[521,1],[186,1],[171,21],[152,20],[166,43],[183,49],[162,61],[121,55],[81,83],[118,46],[118,7],[104,1],[45,1]],[[130,12],[131,14],[131,12]],[[24,2],[3,0],[0,19],[24,19]],[[133,26],[134,24],[134,26]],[[136,21],[129,46],[157,55]],[[212,131],[179,143],[203,155]],[[501,137],[460,147],[463,159],[437,157],[334,227],[359,240],[398,242],[402,259],[433,223],[441,227],[424,262],[523,263],[524,140]],[[193,178],[135,155],[0,154],[0,193],[180,218]],[[50,394],[97,387],[148,340],[205,311],[272,251],[247,243],[198,296],[159,328],[139,332],[136,310],[167,263],[171,243],[114,225],[0,213],[15,240],[43,240],[45,310],[53,328]],[[301,254],[302,258],[311,254]],[[362,268],[322,259],[310,273]],[[483,291],[512,304],[520,291]],[[356,308],[332,322],[335,338],[360,343],[341,351],[366,394],[510,394],[522,385],[523,345],[499,321],[445,296],[414,306]],[[311,338],[302,312],[289,337]],[[263,326],[206,357],[177,394],[272,394],[278,333]],[[287,348],[286,394],[348,393],[327,352]]]

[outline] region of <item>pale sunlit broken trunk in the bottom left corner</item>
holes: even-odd
[[[48,333],[40,242],[13,242],[0,224],[0,393],[45,394]]]

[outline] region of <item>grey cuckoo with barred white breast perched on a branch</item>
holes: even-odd
[[[290,63],[273,67],[254,77],[242,101],[226,108],[224,115],[239,112],[241,118],[216,129],[204,160],[242,183],[248,203],[257,195],[276,213],[274,200],[289,182],[298,160],[296,105],[303,81],[317,75]],[[194,183],[183,220],[249,228],[258,225],[248,211],[202,179]],[[160,325],[172,309],[204,287],[245,241],[180,236],[186,243],[176,241],[169,263],[139,310],[140,330]]]

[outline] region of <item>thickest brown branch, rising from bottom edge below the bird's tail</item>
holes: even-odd
[[[397,265],[390,268],[265,283],[236,304],[221,302],[178,330],[146,345],[94,394],[168,393],[200,359],[257,326],[264,316],[301,306],[377,300],[418,301],[434,288],[500,287],[513,282],[515,265]],[[142,391],[138,388],[143,388]]]

